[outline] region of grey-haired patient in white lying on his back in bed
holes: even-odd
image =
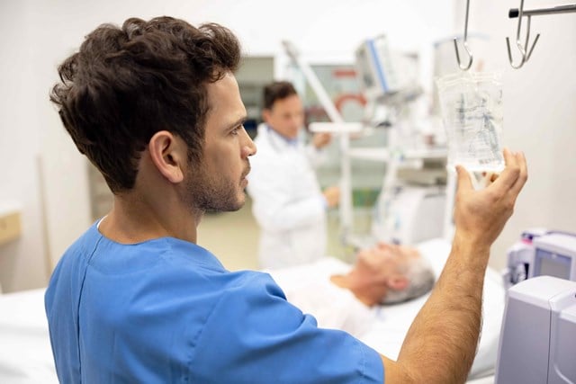
[[[319,326],[356,337],[372,322],[371,308],[418,298],[435,282],[417,248],[386,243],[360,251],[353,265],[325,257],[270,273],[286,299],[314,315]]]

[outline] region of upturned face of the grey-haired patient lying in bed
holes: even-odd
[[[356,268],[386,277],[403,273],[419,257],[418,249],[412,246],[379,243],[358,253]]]

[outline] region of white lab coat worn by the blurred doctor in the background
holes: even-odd
[[[261,229],[261,268],[311,263],[326,253],[326,200],[310,156],[317,150],[289,143],[265,124],[250,157],[247,192]]]

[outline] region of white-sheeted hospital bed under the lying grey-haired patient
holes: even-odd
[[[422,243],[419,249],[439,275],[450,245],[444,240]],[[344,272],[348,264],[334,258],[328,263]],[[294,271],[293,271],[294,272]],[[314,273],[309,268],[309,272]],[[298,274],[279,270],[272,273],[282,286],[283,281]],[[302,274],[299,274],[302,278]],[[486,274],[484,288],[484,319],[482,337],[469,381],[471,384],[493,382],[498,352],[500,323],[504,310],[504,290],[500,275],[492,270]],[[49,344],[48,326],[44,312],[44,290],[29,290],[0,295],[0,382],[10,384],[58,383]],[[374,321],[359,338],[376,351],[396,358],[411,320],[426,297],[407,303],[374,308]]]

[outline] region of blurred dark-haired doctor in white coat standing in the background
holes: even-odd
[[[261,229],[260,267],[311,263],[326,255],[326,210],[339,200],[338,187],[320,190],[314,171],[330,135],[315,135],[308,147],[299,140],[304,112],[291,83],[267,85],[264,99],[265,122],[258,127],[258,152],[250,159],[247,176]]]

